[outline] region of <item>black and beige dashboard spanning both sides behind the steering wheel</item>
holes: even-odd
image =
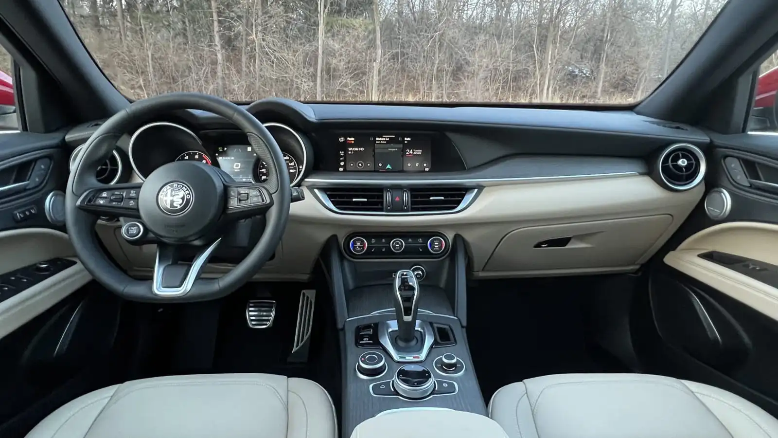
[[[703,174],[687,183],[662,169],[678,148],[704,160],[706,134],[632,111],[276,98],[244,108],[279,144],[289,180],[304,194],[291,204],[281,245],[259,280],[307,281],[333,239],[347,260],[379,267],[423,253],[415,240],[432,234],[452,251],[463,242],[473,278],[633,272],[705,191]],[[76,126],[65,141],[77,151],[99,124]],[[138,182],[177,160],[218,166],[240,182],[267,177],[243,132],[195,110],[142,122],[96,171],[104,183]],[[128,273],[148,276],[155,249],[128,245],[120,228],[108,220],[96,231]],[[231,263],[212,259],[205,273],[218,277]],[[434,263],[430,256],[424,264]]]

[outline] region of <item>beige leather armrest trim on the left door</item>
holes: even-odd
[[[68,235],[49,228],[0,231],[0,274],[56,257],[73,258]],[[62,272],[0,302],[0,338],[44,313],[92,279],[78,261]]]

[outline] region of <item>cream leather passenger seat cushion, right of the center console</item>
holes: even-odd
[[[510,438],[773,438],[778,420],[716,387],[645,374],[559,374],[498,390]]]

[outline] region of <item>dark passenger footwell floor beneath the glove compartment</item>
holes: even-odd
[[[488,402],[500,387],[557,373],[626,373],[589,341],[589,280],[479,281],[468,287],[468,341]]]

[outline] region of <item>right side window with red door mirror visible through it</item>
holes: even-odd
[[[778,132],[778,51],[759,67],[748,132]]]

